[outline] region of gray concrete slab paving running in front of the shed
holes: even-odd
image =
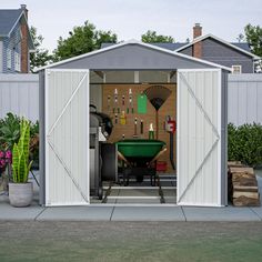
[[[262,178],[258,177],[260,192]],[[29,208],[12,208],[8,195],[0,196],[0,220],[29,221],[262,221],[259,208],[195,208],[163,205],[110,205],[43,208],[38,204],[38,192]]]

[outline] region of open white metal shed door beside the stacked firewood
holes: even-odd
[[[221,205],[221,70],[178,70],[178,204]]]

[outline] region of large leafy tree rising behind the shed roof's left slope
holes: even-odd
[[[54,60],[60,61],[82,53],[100,49],[102,42],[115,43],[118,37],[111,31],[97,30],[94,24],[85,21],[81,27],[74,27],[69,37],[58,40],[58,48],[53,51]]]

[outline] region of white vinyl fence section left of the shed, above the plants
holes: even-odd
[[[39,119],[38,74],[0,73],[0,118],[8,112],[33,122]]]

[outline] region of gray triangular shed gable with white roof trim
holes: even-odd
[[[220,68],[231,69],[205,60],[170,51],[149,43],[130,40],[97,51],[37,69],[92,69],[92,70],[175,70]]]

